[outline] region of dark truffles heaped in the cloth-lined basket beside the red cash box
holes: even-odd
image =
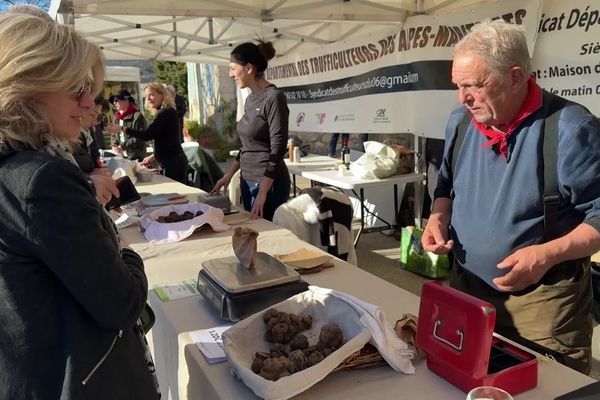
[[[251,369],[270,381],[312,367],[344,344],[340,327],[325,324],[317,344],[310,345],[308,338],[300,333],[312,327],[310,315],[300,317],[271,308],[263,314],[263,321],[267,328],[265,339],[271,347],[269,352],[255,354]]]

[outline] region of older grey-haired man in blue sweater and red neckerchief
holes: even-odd
[[[589,373],[589,256],[600,249],[600,124],[584,107],[539,88],[530,77],[523,32],[485,21],[456,45],[452,81],[463,106],[446,128],[422,244],[454,252],[451,285],[495,305],[497,332],[535,342]],[[545,161],[556,163],[560,200],[555,231],[548,232],[542,149],[555,109],[557,145]],[[457,143],[461,130],[464,139]]]

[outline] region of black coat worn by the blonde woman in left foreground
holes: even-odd
[[[0,398],[157,398],[132,329],[143,262],[119,253],[86,176],[45,153],[0,155],[0,219]]]

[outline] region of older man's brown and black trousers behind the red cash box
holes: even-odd
[[[553,356],[581,373],[590,373],[589,263],[574,260],[557,265],[539,284],[515,293],[495,290],[455,263],[450,286],[492,303],[496,308],[497,333]]]

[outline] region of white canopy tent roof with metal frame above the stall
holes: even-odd
[[[257,36],[285,56],[401,27],[412,15],[494,1],[52,0],[49,12],[101,46],[107,59],[226,64],[232,46]]]

